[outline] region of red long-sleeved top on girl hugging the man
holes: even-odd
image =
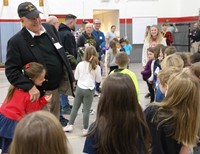
[[[4,100],[0,108],[0,113],[9,119],[19,121],[26,114],[42,109],[47,103],[44,96],[39,98],[38,101],[31,102],[28,92],[15,89],[10,101],[7,102],[6,99]]]

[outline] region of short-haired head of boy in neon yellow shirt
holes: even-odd
[[[128,55],[125,52],[118,53],[115,60],[119,67],[125,67],[129,62]]]

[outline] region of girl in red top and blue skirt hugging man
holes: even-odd
[[[46,69],[39,63],[26,64],[23,72],[36,86],[41,86],[45,81]],[[42,109],[51,97],[52,95],[45,95],[38,101],[31,102],[28,92],[17,89],[13,85],[9,87],[8,94],[0,108],[0,149],[2,153],[8,152],[16,123],[26,114]]]

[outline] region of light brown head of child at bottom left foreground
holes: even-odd
[[[47,111],[25,116],[16,126],[10,154],[69,154],[58,119]]]

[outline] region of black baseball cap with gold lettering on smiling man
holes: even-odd
[[[42,13],[30,2],[19,4],[17,9],[19,17],[26,17],[28,19],[35,18],[38,14]]]

